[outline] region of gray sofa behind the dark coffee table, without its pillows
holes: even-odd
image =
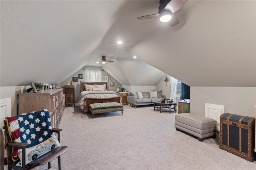
[[[150,104],[154,104],[154,101],[156,101],[156,100],[166,99],[166,96],[162,95],[162,90],[157,91],[157,92],[158,92],[157,98],[150,98],[149,92],[142,92],[143,98],[141,98],[141,99],[138,98],[138,96],[136,95],[135,92],[130,92],[129,96],[127,96],[127,102],[129,104],[129,106],[134,105],[135,109],[136,109],[137,106],[150,105]]]

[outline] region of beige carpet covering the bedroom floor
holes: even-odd
[[[215,139],[203,142],[174,128],[177,113],[152,106],[124,106],[120,112],[82,114],[66,107],[60,124],[62,170],[255,170],[256,162],[219,149]],[[36,169],[46,169],[40,166]],[[58,169],[57,159],[52,170]]]

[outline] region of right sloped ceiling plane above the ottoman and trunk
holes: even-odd
[[[202,1],[180,21],[129,52],[189,86],[256,87],[256,1]]]

